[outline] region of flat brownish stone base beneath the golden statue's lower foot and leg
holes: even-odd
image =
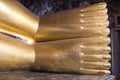
[[[0,72],[0,80],[116,80],[115,76],[39,72]]]

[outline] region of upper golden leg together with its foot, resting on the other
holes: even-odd
[[[25,38],[28,43],[109,34],[105,29],[109,25],[106,3],[38,18],[16,0],[0,0],[0,14],[0,31]]]

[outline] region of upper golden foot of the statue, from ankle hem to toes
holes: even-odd
[[[105,3],[40,16],[35,39],[50,41],[110,34]]]

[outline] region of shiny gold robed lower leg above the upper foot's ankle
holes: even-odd
[[[38,23],[39,18],[17,0],[0,0],[0,31],[24,37],[31,43]]]

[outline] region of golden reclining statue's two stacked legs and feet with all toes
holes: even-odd
[[[0,71],[105,74],[111,64],[106,3],[35,16],[17,0],[0,0]]]

